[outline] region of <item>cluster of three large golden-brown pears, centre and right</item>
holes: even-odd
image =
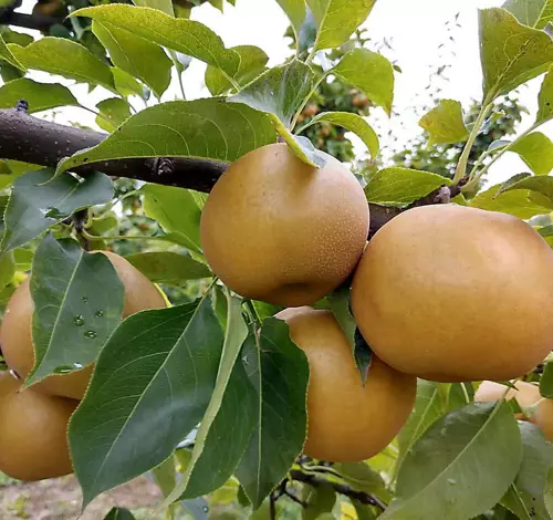
[[[239,158],[206,202],[201,242],[230,289],[288,308],[276,318],[311,370],[305,454],[353,461],[398,434],[417,377],[507,381],[547,355],[553,252],[518,218],[455,204],[406,210],[367,245],[364,191],[326,158],[311,167],[284,144]],[[344,284],[372,350],[365,384],[334,315],[312,306]]]

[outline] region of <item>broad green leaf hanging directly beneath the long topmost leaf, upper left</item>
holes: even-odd
[[[94,20],[92,31],[109,52],[115,66],[142,80],[157,97],[161,96],[169,86],[173,63],[159,45],[107,22]]]

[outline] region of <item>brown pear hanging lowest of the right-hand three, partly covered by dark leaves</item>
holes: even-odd
[[[332,312],[286,309],[276,318],[289,324],[310,365],[305,455],[349,462],[382,451],[413,409],[416,377],[373,355],[363,385],[352,346]]]

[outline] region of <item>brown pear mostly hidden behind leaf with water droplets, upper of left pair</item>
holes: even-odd
[[[159,290],[127,260],[113,252],[102,251],[113,263],[125,287],[123,318],[147,309],[166,306]],[[31,323],[34,304],[29,280],[11,297],[0,326],[0,345],[8,366],[23,379],[34,365]],[[82,399],[92,375],[93,365],[70,374],[54,374],[32,386],[35,392]]]

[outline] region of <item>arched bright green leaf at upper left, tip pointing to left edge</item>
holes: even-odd
[[[29,69],[102,85],[109,91],[115,87],[109,67],[85,46],[71,40],[46,37],[28,46],[10,44],[9,48]]]

